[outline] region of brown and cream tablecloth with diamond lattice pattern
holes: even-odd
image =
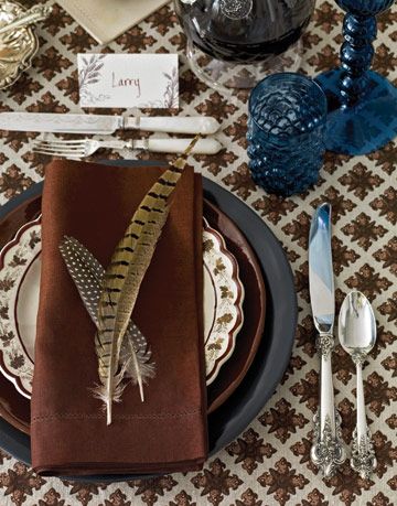
[[[35,3],[26,1],[23,3]],[[310,75],[337,63],[342,13],[333,1],[318,4],[304,36],[303,71]],[[374,67],[397,79],[397,9],[379,17]],[[33,67],[9,90],[0,93],[1,110],[78,111],[76,53],[179,52],[184,36],[170,7],[109,44],[95,41],[58,6],[39,30],[41,47]],[[249,177],[246,154],[247,97],[229,100],[208,89],[182,60],[184,114],[206,114],[222,121],[226,150],[196,158],[194,165],[250,205],[275,232],[294,271],[299,326],[289,368],[271,400],[240,437],[210,459],[202,472],[107,486],[36,476],[24,464],[1,453],[0,504],[71,506],[300,505],[397,504],[397,143],[367,157],[328,153],[319,184],[304,195],[277,198]],[[130,133],[128,133],[130,136]],[[0,201],[4,203],[44,175],[47,159],[30,151],[34,134],[0,132]],[[128,157],[128,153],[121,153]],[[318,357],[309,312],[308,234],[313,207],[333,206],[333,255],[340,306],[353,288],[372,301],[377,345],[364,369],[367,415],[378,466],[372,480],[361,480],[347,463],[324,482],[310,463],[312,417],[318,405]],[[351,444],[355,423],[355,373],[339,346],[334,359],[336,403],[343,439]],[[49,444],[52,444],[49,441]]]

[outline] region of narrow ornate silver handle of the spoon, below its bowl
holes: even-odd
[[[362,478],[368,480],[376,467],[376,457],[365,416],[362,359],[357,357],[355,363],[357,376],[357,426],[353,433],[351,464]]]

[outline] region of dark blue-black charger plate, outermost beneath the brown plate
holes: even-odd
[[[128,164],[130,161],[107,161]],[[210,454],[236,439],[264,408],[279,384],[291,355],[297,325],[297,297],[286,254],[267,225],[246,204],[219,185],[203,177],[204,196],[213,202],[244,233],[257,254],[266,284],[266,323],[257,355],[240,386],[218,409],[208,416]],[[23,201],[40,195],[42,183],[0,208],[0,219]],[[31,464],[30,437],[0,419],[0,446],[19,461]],[[118,482],[136,475],[73,477],[85,482]]]

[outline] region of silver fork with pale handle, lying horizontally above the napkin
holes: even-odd
[[[34,140],[33,151],[53,157],[85,158],[94,154],[99,148],[116,150],[147,150],[155,153],[181,153],[186,150],[193,139],[140,139],[140,140]],[[215,154],[223,146],[216,139],[198,139],[192,153]]]

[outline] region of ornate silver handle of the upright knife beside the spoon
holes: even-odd
[[[331,352],[333,344],[332,334],[319,335],[316,346],[321,355],[320,407],[314,416],[314,442],[311,459],[321,469],[324,477],[332,476],[335,469],[346,459],[341,441],[341,417],[335,410],[332,384]]]

